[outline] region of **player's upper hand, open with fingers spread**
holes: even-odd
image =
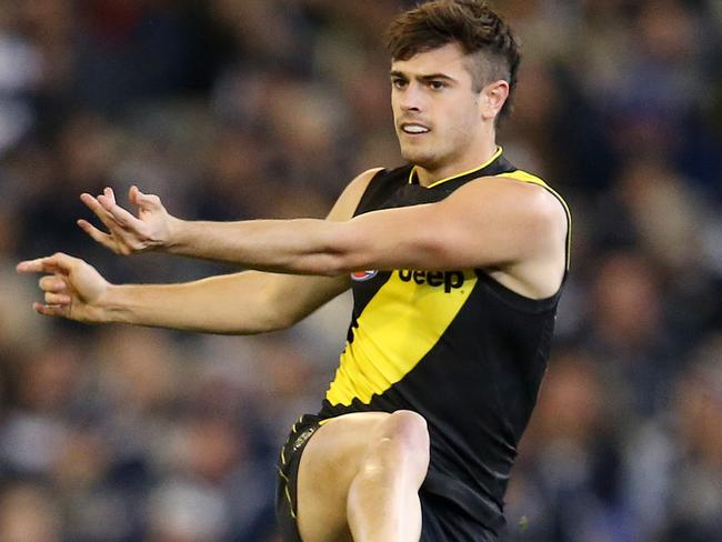
[[[166,211],[160,198],[144,194],[138,187],[131,187],[128,197],[138,208],[138,217],[116,202],[111,188],[104,189],[97,198],[89,193],[81,194],[80,200],[96,213],[108,232],[82,219],[78,220],[78,225],[117,254],[128,255],[168,247],[171,242],[171,228],[177,219]]]

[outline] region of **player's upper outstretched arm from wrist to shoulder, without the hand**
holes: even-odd
[[[565,228],[561,204],[543,188],[484,178],[438,203],[372,211],[340,222],[176,219],[153,248],[297,274],[502,268],[544,258],[560,239],[563,244]]]

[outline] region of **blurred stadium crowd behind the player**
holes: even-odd
[[[0,540],[278,540],[273,464],[320,405],[349,298],[259,338],[81,327],[34,314],[14,264],[234,271],[94,245],[78,195],[106,185],[189,219],[322,217],[401,164],[382,31],[410,6],[0,1]],[[495,6],[524,43],[499,141],[574,217],[504,540],[721,541],[722,2]]]

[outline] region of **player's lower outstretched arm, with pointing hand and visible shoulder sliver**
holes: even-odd
[[[377,171],[354,179],[327,220],[349,220]],[[87,323],[123,322],[228,334],[288,328],[349,288],[348,275],[260,271],[181,284],[114,285],[90,264],[62,253],[22,262],[18,271],[49,273],[39,282],[44,303],[33,305],[41,314]]]

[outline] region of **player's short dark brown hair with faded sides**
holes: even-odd
[[[511,112],[521,61],[519,40],[507,22],[484,0],[433,0],[399,16],[387,32],[392,60],[409,60],[417,53],[448,43],[459,43],[471,57],[469,71],[474,91],[493,81],[509,83],[509,99],[500,112]]]

